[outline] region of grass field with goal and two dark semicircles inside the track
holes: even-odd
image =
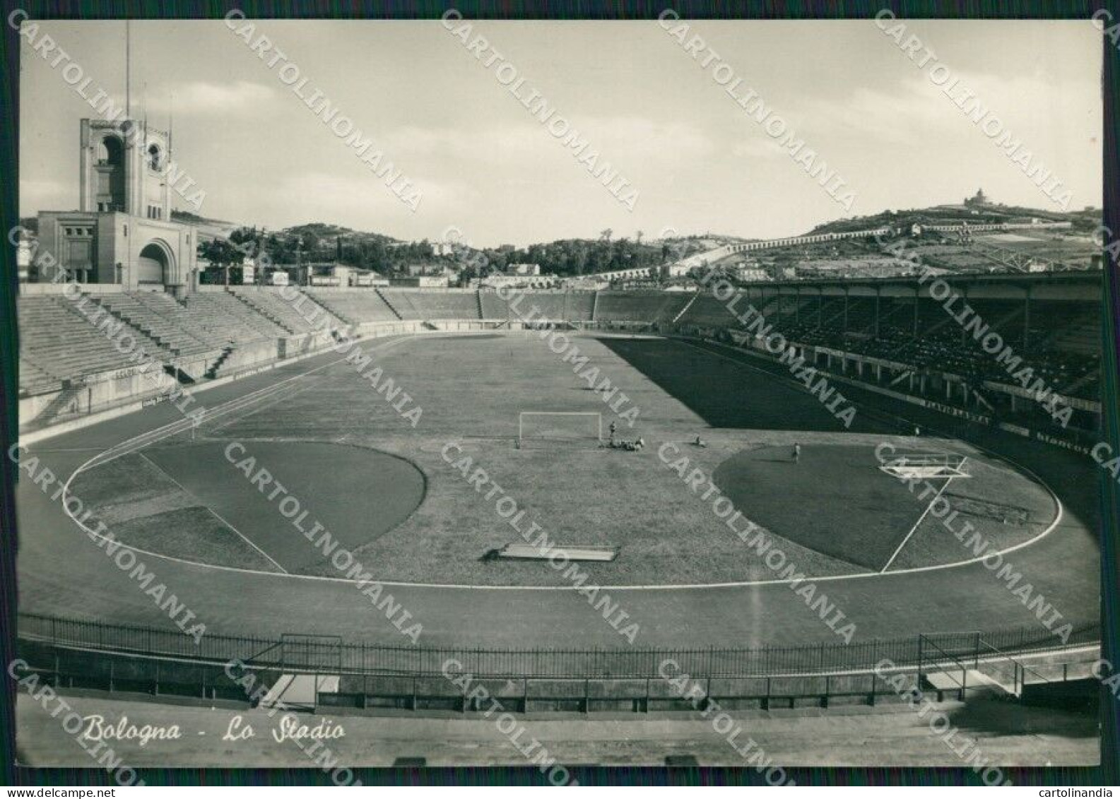
[[[814,576],[964,560],[925,509],[878,470],[881,424],[846,432],[803,388],[683,342],[576,338],[580,351],[636,406],[632,429],[587,389],[570,364],[533,335],[430,337],[377,357],[422,408],[413,429],[353,367],[336,364],[262,406],[85,471],[75,492],[136,546],[215,565],[337,576],[325,558],[223,454],[241,442],[302,508],[383,580],[483,585],[563,585],[540,562],[482,561],[517,539],[487,500],[440,454],[456,442],[550,539],[620,547],[585,564],[605,585],[694,584],[774,577],[680,477],[657,458],[678,442],[715,474],[744,517],[777,537]],[[522,411],[598,412],[604,427],[642,435],[637,453],[570,444],[514,446]],[[859,419],[859,417],[857,417]],[[702,435],[709,446],[687,442]],[[792,464],[793,442],[803,445]],[[913,442],[912,442],[913,443]],[[922,440],[923,450],[937,450]],[[960,444],[972,477],[946,496],[998,547],[1035,535],[1053,517],[1046,491],[1007,464]],[[500,496],[500,495],[498,495]],[[230,526],[221,523],[225,519]],[[1007,520],[1005,523],[1005,519]],[[233,532],[231,527],[235,527]],[[246,540],[248,539],[248,540]],[[248,543],[252,542],[252,544]]]

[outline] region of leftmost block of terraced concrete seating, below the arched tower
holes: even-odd
[[[20,387],[49,391],[60,380],[134,366],[109,337],[57,297],[20,297]],[[153,357],[170,355],[141,331],[127,327],[144,351]],[[47,377],[50,380],[47,380]]]

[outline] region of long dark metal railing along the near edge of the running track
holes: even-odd
[[[176,628],[114,624],[93,620],[21,613],[18,637],[65,649],[138,657],[224,664],[240,660],[255,668],[290,673],[353,675],[439,675],[449,660],[476,676],[514,678],[657,677],[661,665],[675,661],[674,673],[693,677],[757,677],[866,671],[890,659],[899,667],[926,662],[931,647],[939,657],[977,662],[993,650],[1060,650],[1096,643],[1098,626],[1076,629],[1065,642],[1040,626],[990,631],[914,633],[842,642],[758,648],[707,647],[659,649],[496,649],[423,647],[345,641],[336,637],[289,632],[273,638],[207,633],[195,640]]]

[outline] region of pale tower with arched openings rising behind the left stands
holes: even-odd
[[[171,134],[134,120],[84,119],[78,154],[78,209],[39,213],[37,263],[49,253],[78,283],[190,291],[198,242],[193,226],[171,219]],[[53,276],[32,270],[28,280]]]

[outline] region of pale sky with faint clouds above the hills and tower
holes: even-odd
[[[321,92],[416,185],[414,210],[222,20],[132,22],[133,115],[166,128],[174,109],[174,159],[205,190],[199,214],[270,229],[325,222],[439,241],[454,226],[476,246],[606,228],[769,238],[981,187],[1058,210],[931,82],[932,63],[920,68],[874,21],[687,24],[719,54],[709,68],[656,21],[473,22],[470,38],[502,55],[491,68],[438,20],[254,21],[252,38],[308,78],[304,95]],[[123,102],[123,22],[39,25],[92,78],[86,94]],[[1089,21],[904,25],[1072,190],[1070,209],[1101,205],[1102,45]],[[21,41],[20,215],[76,208],[78,121],[97,114],[65,64]],[[521,96],[539,92],[588,140],[585,154],[628,180],[633,209],[498,82],[505,62]],[[755,91],[836,169],[850,209],[713,79],[720,62],[741,78],[737,96]]]

